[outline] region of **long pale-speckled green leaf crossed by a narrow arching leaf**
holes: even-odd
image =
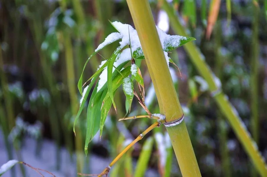
[[[115,95],[116,90],[123,83],[123,78],[129,76],[130,73],[131,73],[131,67],[130,66],[127,66],[120,73],[117,73],[117,75],[112,80],[112,93],[113,93],[113,95]],[[100,127],[99,127],[100,128],[100,136],[102,135],[104,123],[107,119],[107,114],[108,114],[108,112],[111,108],[111,104],[112,104],[111,98],[109,96],[109,92],[107,92],[103,102],[104,103],[103,103],[103,106],[101,108],[101,119],[100,119]]]

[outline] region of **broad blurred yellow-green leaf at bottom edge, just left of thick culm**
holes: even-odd
[[[134,177],[142,177],[147,169],[147,164],[150,159],[150,155],[153,147],[153,138],[149,137],[144,142],[142,151],[136,164]]]

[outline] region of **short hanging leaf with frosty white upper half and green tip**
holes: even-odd
[[[130,77],[123,79],[123,92],[128,102],[128,110],[126,110],[128,112],[131,110],[131,104],[134,98],[134,83]]]

